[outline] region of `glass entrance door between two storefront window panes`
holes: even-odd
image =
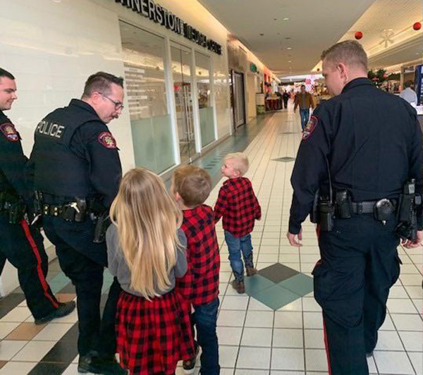
[[[171,56],[180,162],[190,163],[193,156],[196,155],[194,116],[192,114],[191,51],[172,42]]]

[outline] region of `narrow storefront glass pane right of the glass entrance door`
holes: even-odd
[[[210,58],[195,52],[195,74],[197,75],[198,106],[200,109],[200,128],[202,147],[215,140],[214,109],[212,107]]]

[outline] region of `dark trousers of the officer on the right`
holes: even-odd
[[[355,214],[319,233],[314,297],[323,310],[329,374],[369,374],[366,353],[376,346],[389,288],[400,274],[395,226]]]

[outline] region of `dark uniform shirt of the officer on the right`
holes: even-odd
[[[422,130],[405,100],[376,88],[367,78],[345,85],[341,94],[314,110],[302,133],[291,176],[293,202],[289,232],[300,232],[314,195],[327,181],[347,189],[353,202],[398,198],[416,179],[422,192]],[[326,186],[326,190],[327,190]],[[418,214],[418,228],[423,228]]]

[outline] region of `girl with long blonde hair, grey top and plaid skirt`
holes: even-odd
[[[174,290],[188,269],[182,214],[163,180],[145,168],[123,176],[106,233],[109,270],[123,291],[117,351],[130,374],[173,375],[194,355],[190,318]]]

